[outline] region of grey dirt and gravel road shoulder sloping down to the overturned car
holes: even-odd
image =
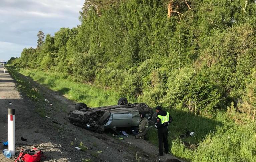
[[[3,68],[0,68],[0,141],[8,140],[7,108],[15,108],[16,155],[21,148],[37,147],[47,157],[43,161],[48,162],[79,162],[82,159],[89,162],[136,162],[139,158],[141,162],[154,162],[173,158],[167,154],[164,157],[156,156],[158,147],[146,140],[137,140],[134,136],[129,135],[124,140],[119,140],[111,134],[98,134],[70,124],[67,114],[75,105],[73,101],[28,77],[20,77],[29,80],[31,87],[37,88],[49,102],[31,100],[25,93],[18,92],[15,81],[8,72],[3,73]],[[21,137],[27,141],[22,141]],[[81,142],[87,150],[75,149]],[[1,144],[0,152],[5,148]],[[0,162],[11,161],[14,159],[6,159],[0,154]]]

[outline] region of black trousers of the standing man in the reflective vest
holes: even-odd
[[[165,130],[158,130],[157,131],[158,135],[158,142],[159,142],[159,153],[163,154],[163,144],[165,151],[169,151],[169,144],[168,144],[168,129]]]

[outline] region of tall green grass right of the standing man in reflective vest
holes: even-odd
[[[219,112],[214,120],[177,110],[171,114],[174,122],[169,125],[169,144],[175,156],[193,162],[256,162],[255,124],[237,125],[225,112]],[[157,143],[157,133],[151,130],[149,139]],[[196,134],[181,139],[179,135],[186,130]]]

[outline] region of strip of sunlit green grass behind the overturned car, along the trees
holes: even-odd
[[[77,83],[70,79],[63,79],[58,73],[42,72],[37,70],[20,69],[19,73],[31,77],[52,90],[58,91],[68,99],[83,102],[89,107],[117,104],[120,97],[111,90]]]

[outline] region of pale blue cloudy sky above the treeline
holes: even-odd
[[[84,0],[0,0],[0,62],[37,46],[37,33],[54,35],[80,24]]]

